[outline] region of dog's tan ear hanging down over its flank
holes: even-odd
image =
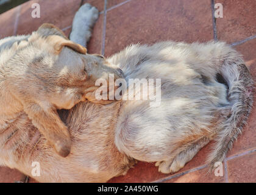
[[[26,102],[24,112],[46,140],[54,146],[55,151],[60,156],[66,157],[71,149],[71,138],[68,127],[60,119],[57,110],[53,107],[43,109],[37,103]]]

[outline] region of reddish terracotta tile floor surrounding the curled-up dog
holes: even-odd
[[[41,6],[41,18],[32,18],[32,3]],[[42,23],[53,23],[69,35],[73,16],[81,4],[90,2],[101,15],[88,44],[90,53],[109,56],[131,43],[160,40],[227,41],[244,55],[256,81],[256,1],[254,0],[32,0],[0,15],[0,35],[29,34]],[[213,5],[221,2],[224,18],[213,23]],[[216,29],[216,30],[214,30]],[[255,102],[256,104],[256,102]],[[248,126],[224,160],[224,176],[207,174],[204,147],[176,174],[161,174],[153,163],[138,162],[126,176],[109,182],[256,182],[256,109]],[[0,168],[0,182],[24,180],[15,169]],[[36,182],[30,179],[29,182]]]

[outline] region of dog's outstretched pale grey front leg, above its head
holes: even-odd
[[[99,11],[90,4],[84,4],[76,12],[73,19],[72,30],[69,38],[75,43],[86,47],[91,37],[91,28],[98,19]]]

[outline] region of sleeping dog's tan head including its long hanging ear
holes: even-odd
[[[66,156],[70,143],[63,142],[69,135],[56,110],[87,100],[112,102],[94,97],[99,88],[95,82],[108,80],[110,74],[118,79],[122,77],[121,70],[109,65],[101,55],[87,54],[87,49],[68,40],[51,24],[43,24],[14,47],[15,53],[7,64],[9,91],[57,152]]]

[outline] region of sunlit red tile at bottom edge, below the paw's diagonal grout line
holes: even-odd
[[[165,183],[222,183],[225,182],[225,175],[215,176],[207,174],[208,168],[200,169],[179,177],[165,180]],[[224,171],[223,171],[224,174]]]

